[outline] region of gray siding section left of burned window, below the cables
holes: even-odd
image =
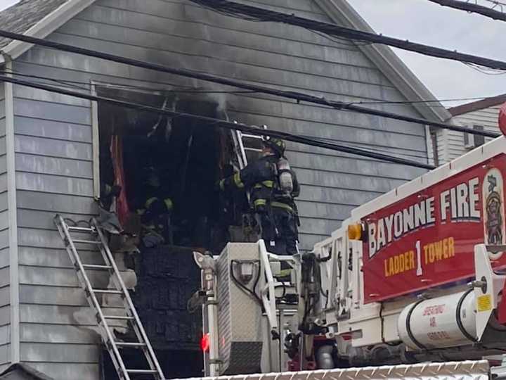
[[[90,105],[19,87],[14,96],[20,360],[56,379],[69,378],[70,363],[80,379],[97,379],[96,319],[53,224],[56,213],[95,213]],[[80,252],[100,263],[98,253]],[[107,287],[103,272],[89,277]]]

